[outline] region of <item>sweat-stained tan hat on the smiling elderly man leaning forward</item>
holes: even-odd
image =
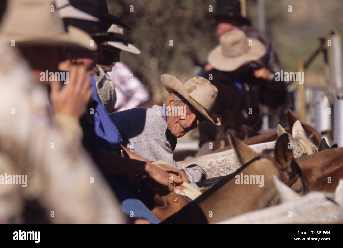
[[[162,84],[169,93],[177,92],[184,97],[203,117],[204,120],[214,126],[221,125],[221,119],[215,120],[210,111],[217,99],[218,90],[203,77],[193,77],[182,84],[179,79],[172,75],[163,74]]]

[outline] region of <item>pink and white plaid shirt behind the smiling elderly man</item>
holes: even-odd
[[[133,76],[125,64],[117,62],[107,74],[113,81],[117,94],[115,112],[138,107],[149,99],[149,93],[142,82]]]

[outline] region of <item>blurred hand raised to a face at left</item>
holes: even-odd
[[[65,114],[79,119],[92,97],[92,87],[84,65],[72,65],[69,83],[61,89],[60,82],[51,82],[50,100],[54,114]]]

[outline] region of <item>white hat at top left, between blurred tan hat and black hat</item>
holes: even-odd
[[[93,22],[99,21],[99,18],[76,9],[73,5],[71,5],[69,0],[55,0],[55,6],[61,18],[74,18]]]

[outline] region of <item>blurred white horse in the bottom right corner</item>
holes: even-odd
[[[300,197],[274,176],[280,203],[217,224],[333,224],[343,222],[343,180],[334,194],[313,191]]]

